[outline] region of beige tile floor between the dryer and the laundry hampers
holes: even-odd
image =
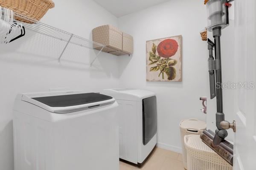
[[[120,170],[185,170],[180,153],[157,147],[143,167],[138,168],[120,161]]]

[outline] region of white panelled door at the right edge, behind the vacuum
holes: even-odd
[[[235,98],[234,170],[256,170],[256,0],[234,2],[235,74],[236,81],[241,82]],[[250,82],[254,82],[254,88]]]

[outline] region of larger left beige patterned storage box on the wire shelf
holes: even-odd
[[[104,52],[121,51],[122,31],[111,25],[99,26],[93,29],[93,41],[106,45],[108,48],[104,48]],[[93,44],[93,48],[101,50],[102,47]]]

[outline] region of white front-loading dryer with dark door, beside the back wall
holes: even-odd
[[[143,165],[157,144],[157,102],[151,91],[106,89],[119,104],[119,158]]]

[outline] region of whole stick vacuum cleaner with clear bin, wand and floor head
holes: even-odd
[[[236,123],[225,121],[222,101],[222,77],[221,77],[221,30],[229,26],[228,8],[231,6],[227,0],[209,0],[207,2],[208,31],[212,31],[214,42],[208,39],[209,50],[209,81],[210,98],[216,96],[217,113],[215,133],[205,130],[201,139],[205,144],[218,153],[223,159],[233,166],[233,144],[225,140],[227,129],[236,131]],[[214,50],[214,54],[213,54]]]

